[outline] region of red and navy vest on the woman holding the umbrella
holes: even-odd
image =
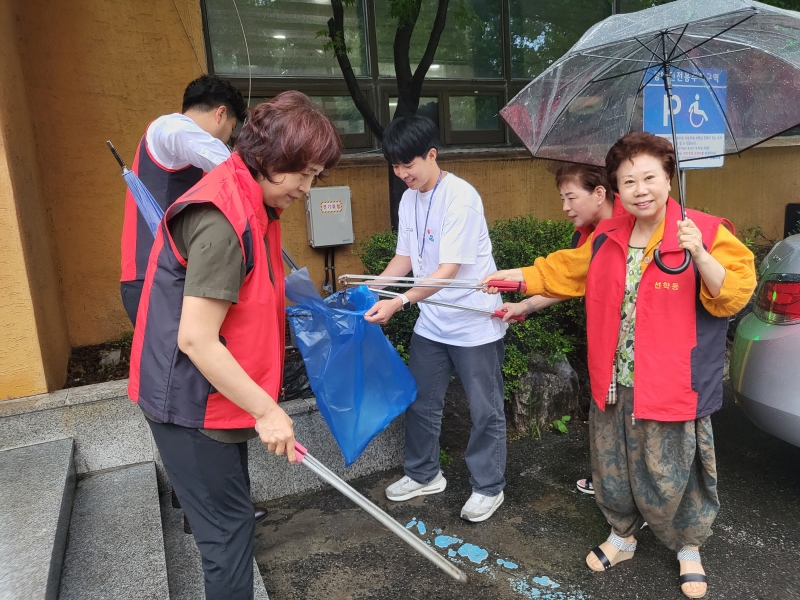
[[[687,210],[708,249],[719,225],[729,224]],[[664,237],[659,247],[670,267],[683,262],[678,246],[680,206],[667,202]],[[614,370],[625,293],[628,242],[633,215],[606,219],[595,230],[592,262],[586,279],[586,328],[592,398],[605,410]],[[645,266],[636,301],[633,414],[637,419],[690,421],[722,406],[722,372],[728,319],[714,317],[699,300],[700,279],[694,263],[669,275],[650,262]]]

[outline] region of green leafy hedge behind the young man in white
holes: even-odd
[[[542,221],[519,217],[496,221],[489,228],[493,254],[498,269],[510,269],[533,264],[535,258],[566,248],[572,238],[569,221]],[[376,233],[362,242],[355,251],[366,274],[377,275],[394,257],[397,234],[391,231]],[[518,302],[520,294],[506,294],[505,299]],[[383,326],[384,333],[408,362],[408,350],[414,322],[419,310],[396,313]],[[528,359],[541,354],[551,359],[565,355],[585,354],[586,319],[582,300],[562,302],[529,316],[524,323],[514,324],[506,333],[506,359],[503,363],[506,398],[516,390],[519,378],[528,370]]]

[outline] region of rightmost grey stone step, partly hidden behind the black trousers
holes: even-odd
[[[183,511],[172,508],[169,493],[161,496],[161,522],[167,552],[170,600],[203,600],[203,564],[194,537],[183,532]],[[264,580],[253,561],[255,600],[269,600]]]

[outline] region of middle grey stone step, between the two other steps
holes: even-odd
[[[60,600],[169,597],[155,464],[82,477],[75,493]]]

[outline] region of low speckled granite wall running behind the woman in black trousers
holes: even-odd
[[[153,461],[159,489],[169,481],[141,410],[128,400],[127,380],[87,385],[0,402],[0,449],[64,437],[75,439],[79,474]],[[66,392],[66,395],[64,395]],[[9,404],[15,407],[9,408]],[[27,406],[22,410],[23,405]],[[392,469],[403,462],[403,418],[399,417],[367,447],[351,467],[344,460],[313,398],[281,403],[294,420],[297,439],[323,464],[344,479]],[[301,466],[267,452],[256,439],[249,443],[252,496],[264,502],[315,490],[325,484]]]

